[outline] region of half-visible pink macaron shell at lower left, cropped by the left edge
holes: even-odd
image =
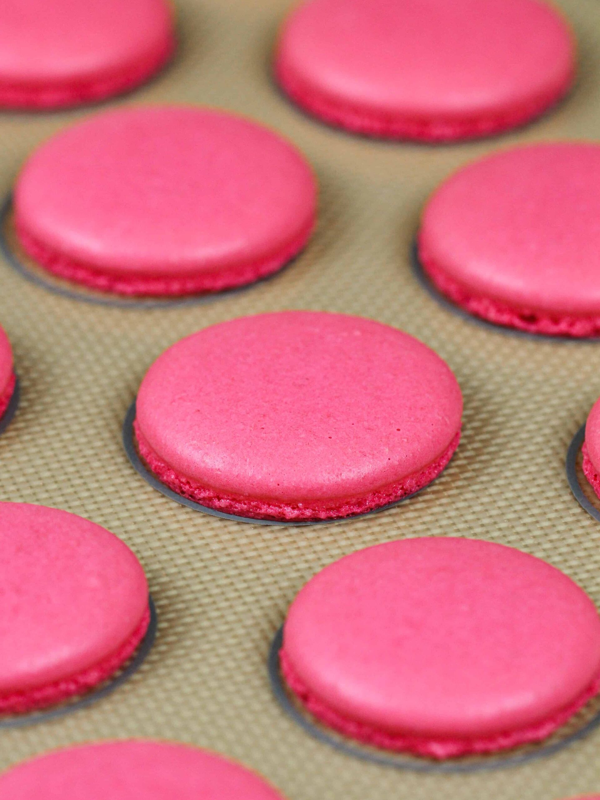
[[[114,534],[66,511],[0,502],[0,554],[0,713],[83,694],[134,654],[150,622],[148,584]]]

